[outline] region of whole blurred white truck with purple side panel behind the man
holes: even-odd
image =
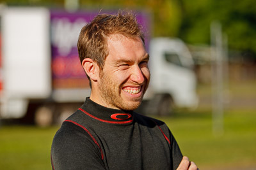
[[[63,120],[90,96],[76,43],[81,27],[95,15],[47,8],[1,11],[2,120],[19,118],[51,125]],[[145,24],[146,19],[145,15],[138,15],[139,22]],[[142,112],[164,115],[170,111],[171,102],[195,107],[196,76],[186,45],[179,39],[168,38],[155,38],[147,44],[150,44],[151,84]]]

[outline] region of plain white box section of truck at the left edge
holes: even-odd
[[[1,118],[26,114],[29,99],[51,95],[49,11],[4,8],[1,16]]]

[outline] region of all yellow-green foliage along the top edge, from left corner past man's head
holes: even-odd
[[[81,10],[130,9],[146,10],[152,17],[152,35],[177,36],[181,24],[179,0],[79,0]],[[64,8],[65,0],[6,0],[10,6],[47,6],[49,8]]]

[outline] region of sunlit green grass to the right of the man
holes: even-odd
[[[177,111],[160,118],[177,139],[184,155],[201,169],[256,169],[256,111],[229,110],[223,134],[212,132],[211,111]]]

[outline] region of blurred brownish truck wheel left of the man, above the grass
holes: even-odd
[[[52,110],[47,106],[41,106],[35,112],[35,124],[40,127],[52,125]]]

